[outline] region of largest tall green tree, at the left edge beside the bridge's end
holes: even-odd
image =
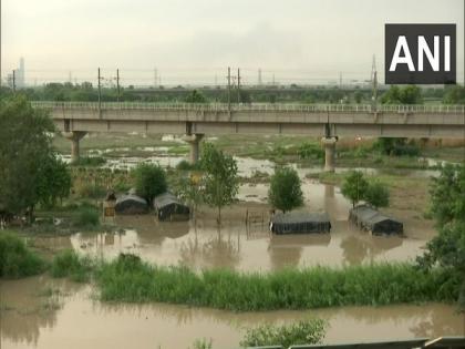
[[[23,96],[0,101],[0,212],[28,213],[41,199],[42,165],[52,154],[52,120]]]

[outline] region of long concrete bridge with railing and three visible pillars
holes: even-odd
[[[326,170],[334,170],[338,137],[465,140],[464,105],[180,104],[32,102],[50,111],[58,129],[79,142],[87,132],[184,134],[190,161],[204,134],[292,134],[322,137]]]

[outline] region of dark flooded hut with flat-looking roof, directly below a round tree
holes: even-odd
[[[270,230],[275,234],[330,233],[331,222],[326,213],[290,212],[276,214]]]

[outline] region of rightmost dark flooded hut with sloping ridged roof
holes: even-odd
[[[404,233],[404,225],[402,222],[388,217],[366,205],[360,205],[352,208],[349,213],[349,219],[360,228],[375,235]]]

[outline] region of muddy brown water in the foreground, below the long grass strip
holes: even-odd
[[[44,296],[48,289],[54,295]],[[458,336],[465,329],[465,318],[454,306],[438,304],[237,314],[159,304],[102,304],[90,286],[46,277],[1,281],[0,296],[2,349],[187,349],[199,338],[211,338],[214,348],[238,348],[245,328],[308,317],[329,321],[328,343]]]

